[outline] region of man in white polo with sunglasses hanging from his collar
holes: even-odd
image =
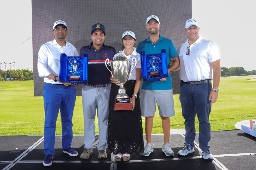
[[[211,139],[209,115],[212,103],[218,98],[220,55],[212,41],[199,37],[199,29],[195,19],[188,19],[184,29],[188,40],[177,49],[180,57],[180,103],[186,129],[185,144],[178,155],[195,152],[197,115],[201,154],[204,159],[213,159],[208,145]]]

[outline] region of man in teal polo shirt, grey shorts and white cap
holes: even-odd
[[[174,152],[169,144],[170,137],[170,117],[174,116],[174,102],[172,95],[172,78],[169,74],[172,70],[180,65],[179,57],[172,40],[159,35],[160,22],[158,17],[151,15],[147,18],[146,28],[149,37],[138,44],[137,52],[145,51],[148,54],[159,54],[161,49],[166,50],[166,63],[168,68],[168,77],[161,78],[160,81],[147,82],[143,80],[140,90],[141,115],[145,116],[145,132],[147,144],[142,156],[149,156],[154,151],[151,141],[151,133],[153,128],[153,118],[156,112],[156,103],[159,115],[162,119],[162,127],[164,131],[164,144],[162,151],[166,156],[173,156]],[[170,66],[172,58],[172,65]]]

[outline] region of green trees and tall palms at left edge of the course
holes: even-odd
[[[10,80],[33,80],[33,71],[27,69],[14,69],[14,63],[5,63],[4,68],[2,68],[2,63],[0,63],[0,81],[6,81],[8,78]],[[7,66],[10,64],[10,69]],[[11,64],[13,64],[13,70],[11,70]]]

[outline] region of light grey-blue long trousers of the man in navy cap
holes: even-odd
[[[107,148],[108,135],[108,106],[111,85],[107,87],[89,87],[82,89],[84,110],[84,148],[92,149],[95,142],[96,110],[99,124],[98,150]]]

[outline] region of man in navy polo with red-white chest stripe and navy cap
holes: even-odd
[[[84,152],[81,159],[88,159],[93,153],[95,141],[95,115],[97,109],[99,124],[98,158],[107,158],[107,134],[108,134],[108,105],[111,89],[111,82],[105,60],[112,61],[116,50],[105,45],[105,27],[102,24],[92,26],[92,43],[80,50],[80,56],[88,54],[88,83],[82,89],[83,110],[84,110]]]

